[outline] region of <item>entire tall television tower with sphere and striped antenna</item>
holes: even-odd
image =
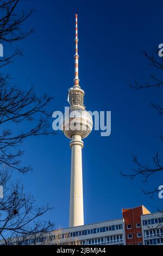
[[[75,76],[74,86],[68,90],[69,110],[61,122],[64,135],[71,139],[71,192],[70,192],[70,221],[69,227],[84,225],[83,212],[83,175],[82,175],[82,139],[92,131],[92,117],[85,110],[84,90],[79,86],[78,77],[78,15],[76,14],[76,51],[74,54]]]

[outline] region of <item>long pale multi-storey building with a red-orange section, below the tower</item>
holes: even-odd
[[[122,218],[94,224],[57,229],[34,238],[9,244],[18,245],[163,245],[163,214],[145,206],[122,209]],[[4,245],[4,241],[0,241]]]

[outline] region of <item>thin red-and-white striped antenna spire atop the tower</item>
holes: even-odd
[[[78,75],[78,14],[76,16],[76,37],[74,39],[76,43],[76,53],[74,54],[74,59],[75,59],[75,77],[74,77],[74,87],[79,87],[79,75]]]

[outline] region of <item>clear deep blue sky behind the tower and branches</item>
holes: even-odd
[[[74,14],[78,13],[79,78],[86,108],[111,111],[111,135],[101,137],[93,131],[84,140],[85,223],[120,218],[122,208],[141,204],[150,211],[161,208],[163,199],[156,195],[151,200],[141,187],[158,187],[162,175],[141,184],[141,179],[123,178],[120,170],[132,172],[132,154],[148,163],[157,150],[162,154],[158,137],[162,122],[150,105],[151,101],[161,102],[162,89],[134,90],[128,86],[135,78],[144,82],[155,73],[141,49],[151,52],[154,45],[163,43],[162,1],[34,0],[23,5],[36,10],[24,23],[24,29],[34,27],[35,33],[15,44],[23,49],[24,57],[5,68],[13,83],[24,90],[34,85],[38,95],[53,96],[49,110],[64,111],[67,89],[73,86]],[[11,49],[5,47],[4,55],[8,51]],[[15,175],[21,177],[37,204],[53,207],[45,218],[56,227],[68,226],[69,142],[62,132],[55,137],[27,139],[22,144],[22,163],[32,164],[33,172]]]

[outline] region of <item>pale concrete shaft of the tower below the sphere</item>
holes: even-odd
[[[70,220],[69,227],[84,225],[83,213],[83,176],[82,176],[82,148],[80,135],[73,135],[71,148],[71,192],[70,192]]]

